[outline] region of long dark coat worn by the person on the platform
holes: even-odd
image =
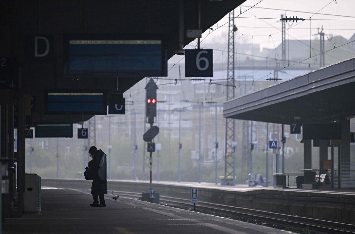
[[[91,194],[107,194],[107,181],[102,181],[99,177],[99,163],[104,152],[101,149],[94,155],[94,158],[89,162],[89,168],[93,170],[93,178],[91,185]]]

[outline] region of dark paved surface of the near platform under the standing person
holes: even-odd
[[[105,208],[90,207],[86,191],[43,187],[42,211],[6,218],[3,233],[285,233],[125,197],[115,201],[111,194]]]

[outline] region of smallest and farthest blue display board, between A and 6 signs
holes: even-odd
[[[34,137],[73,137],[72,124],[37,124]]]

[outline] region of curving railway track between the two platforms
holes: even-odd
[[[138,192],[122,192],[114,191],[116,194],[119,194],[124,197],[136,198],[141,197],[141,193]],[[174,203],[180,206],[192,207],[190,200],[160,196],[160,202],[163,203]],[[217,213],[229,214],[231,216],[243,216],[245,218],[252,218],[260,220],[263,222],[268,222],[272,224],[286,225],[291,227],[297,227],[302,229],[314,230],[322,233],[354,233],[355,234],[355,225],[325,221],[321,219],[313,219],[300,216],[292,216],[288,214],[280,214],[268,211],[260,211],[256,209],[235,207],[220,205],[209,202],[199,201],[196,204],[196,208],[204,209],[208,211],[213,211]]]

